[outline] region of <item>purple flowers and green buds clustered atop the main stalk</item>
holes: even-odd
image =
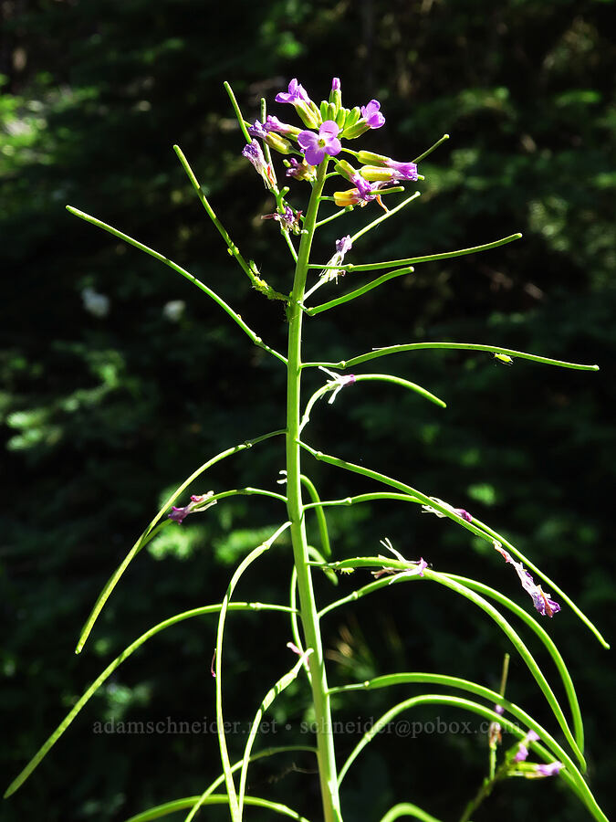
[[[336,172],[353,185],[345,191],[334,192],[334,202],[340,207],[366,205],[377,200],[381,205],[381,193],[392,185],[405,180],[417,180],[415,163],[400,163],[384,154],[373,152],[355,152],[342,147],[342,141],[355,140],[371,129],[380,129],[385,123],[379,100],[370,100],[365,106],[345,109],[341,104],[340,81],[334,78],[331,83],[329,100],[323,100],[318,106],[308,97],[308,92],[292,79],[287,91],[280,91],[276,101],[294,107],[299,119],[306,126],[300,129],[268,115],[266,120],[256,120],[248,126],[248,133],[253,138],[242,152],[263,178],[266,187],[274,189],[276,178],[271,163],[258,142],[261,140],[281,154],[289,156],[285,160],[287,176],[297,180],[313,182],[317,166],[341,152],[348,152],[361,163],[356,169],[345,160],[336,163]],[[383,206],[384,207],[384,206]],[[284,225],[285,221],[281,221]]]

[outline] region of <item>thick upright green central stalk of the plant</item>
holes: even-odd
[[[299,609],[307,648],[312,701],[317,723],[318,775],[325,822],[340,822],[338,776],[331,724],[328,681],[323,659],[317,606],[310,566],[306,522],[301,497],[301,457],[299,440],[300,387],[301,387],[301,332],[303,312],[301,302],[306,288],[310,247],[317,223],[319,197],[323,191],[327,159],[318,166],[317,180],[312,188],[304,221],[295,269],[293,290],[288,307],[288,364],[287,364],[287,511],[291,522],[293,556],[298,572]]]

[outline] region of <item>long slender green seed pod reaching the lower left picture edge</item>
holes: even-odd
[[[282,611],[283,613],[289,613],[291,608],[288,606],[281,606],[281,605],[271,605],[269,603],[263,602],[232,602],[228,606],[228,610],[230,611],[252,611],[253,613],[258,613],[260,611]],[[103,670],[101,674],[97,677],[96,680],[92,682],[89,686],[89,689],[86,690],[72,709],[68,712],[65,718],[60,722],[57,726],[56,730],[50,734],[47,738],[46,742],[41,745],[38,749],[37,753],[32,757],[32,759],[26,764],[26,767],[16,776],[13,782],[6,788],[5,791],[5,798],[7,796],[11,796],[14,794],[20,785],[23,785],[26,782],[26,779],[32,772],[37,768],[38,764],[45,758],[48,754],[50,749],[57,743],[57,740],[62,736],[62,734],[68,729],[68,726],[73,722],[73,720],[78,715],[78,712],[86,705],[89,701],[90,697],[93,696],[97,690],[99,690],[100,686],[108,680],[114,670],[118,669],[122,662],[128,659],[138,648],[147,642],[149,639],[154,637],[156,634],[163,631],[165,628],[172,627],[173,625],[177,625],[179,622],[183,622],[184,619],[192,619],[193,617],[202,617],[205,614],[218,614],[222,608],[221,603],[217,603],[216,605],[210,606],[202,606],[200,608],[193,608],[190,611],[183,611],[182,614],[176,614],[174,617],[169,617],[168,619],[164,619],[162,622],[159,622],[158,625],[151,627],[147,630],[144,634],[141,634],[141,637],[135,639],[134,642],[129,645],[128,648],[124,648],[121,654],[116,657],[110,664],[107,666],[106,669]]]

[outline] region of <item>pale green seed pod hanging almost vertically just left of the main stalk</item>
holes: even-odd
[[[224,622],[226,613],[231,601],[231,597],[235,590],[235,585],[239,582],[240,577],[244,574],[246,568],[258,559],[261,554],[266,553],[278,536],[287,530],[290,522],[285,522],[266,540],[265,543],[257,545],[237,566],[235,573],[231,577],[220,613],[218,615],[218,627],[216,630],[216,648],[214,651],[214,671],[216,680],[216,736],[218,737],[218,747],[220,748],[220,760],[223,765],[224,785],[226,785],[227,796],[229,797],[229,810],[231,812],[232,822],[241,822],[242,814],[239,808],[237,795],[235,793],[235,782],[233,773],[231,771],[231,763],[229,761],[229,753],[226,746],[226,737],[224,735],[224,716],[223,716],[223,638],[224,638]]]

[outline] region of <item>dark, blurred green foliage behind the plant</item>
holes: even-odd
[[[307,357],[455,340],[599,363],[599,374],[521,361],[506,368],[487,354],[400,355],[381,361],[382,370],[426,385],[446,411],[395,386],[364,383],[345,389],[335,406],[319,404],[308,441],[475,512],[558,579],[613,640],[613,4],[6,0],[1,8],[5,778],[113,656],[160,619],[219,600],[233,563],[281,522],[277,502],[241,498],[167,529],[131,566],[89,646],[74,656],[99,589],[165,491],[223,448],[283,424],[280,364],[253,349],[190,283],[64,209],[76,205],[168,254],[267,342],[283,346],[280,304],[250,290],[171,149],[183,147],[245,256],[288,290],[286,248],[276,225],[259,219],[273,201],[239,156],[224,79],[254,117],[260,97],[271,100],[288,79],[298,77],[320,100],[337,75],[348,105],[382,102],[387,125],[363,145],[402,160],[452,135],[423,163],[419,202],[358,243],[350,261],[524,232],[521,242],[482,256],[418,266],[308,320]],[[294,205],[302,207],[306,194],[297,184]],[[341,225],[322,232],[319,258],[346,233]],[[109,297],[107,316],[84,311],[86,288]],[[185,302],[175,321],[163,311],[171,300]],[[321,382],[309,374],[307,390]],[[271,440],[227,460],[193,492],[276,490],[282,458],[281,441]],[[337,469],[307,467],[325,498],[373,490]],[[512,569],[451,523],[388,503],[332,513],[330,523],[337,557],[375,553],[389,536],[406,556],[475,574],[530,605]],[[237,595],[284,601],[289,571],[281,541]],[[338,590],[357,583],[342,579]],[[319,580],[318,593],[325,602],[334,592]],[[173,627],[126,663],[5,803],[3,818],[120,819],[200,792],[219,771],[212,735],[96,734],[93,724],[212,718],[214,624],[205,617]],[[566,608],[547,627],[579,686],[590,784],[608,810],[616,768],[612,656]],[[496,686],[506,649],[484,616],[418,583],[336,612],[324,630],[334,683],[407,669]],[[230,619],[229,719],[252,716],[293,664],[288,639],[285,617]],[[553,726],[517,658],[507,693]],[[287,694],[273,716],[292,728],[263,745],[307,741],[299,732],[305,688],[297,683]],[[362,695],[340,704],[337,716],[366,720],[391,700],[382,691]],[[444,722],[465,719],[438,712]],[[340,754],[357,738],[341,735]],[[239,742],[231,741],[235,754]],[[455,819],[485,767],[482,736],[384,736],[348,777],[345,818],[377,819],[395,801],[411,800]],[[312,768],[301,755],[256,765],[250,791],[318,819]],[[558,780],[517,780],[500,786],[475,822],[531,813],[585,818]]]

